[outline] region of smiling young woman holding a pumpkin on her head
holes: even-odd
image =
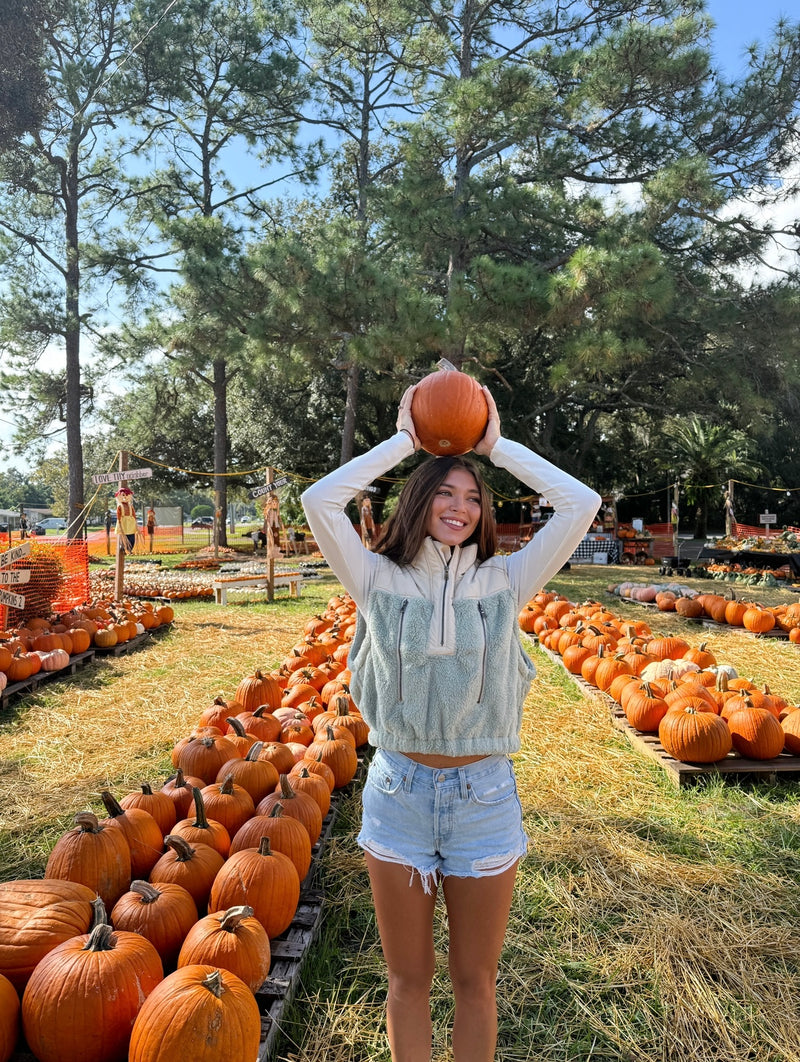
[[[352,692],[376,747],[363,791],[363,847],[386,957],[393,1062],[428,1062],[433,906],[444,894],[456,1062],[491,1062],[496,977],[527,837],[509,755],[535,673],[520,643],[525,602],[573,553],[599,497],[490,417],[479,453],[545,495],[555,513],[522,550],[495,555],[491,498],[464,458],[407,480],[374,552],[345,508],[419,448],[411,400],[397,433],[303,495],[313,536],[358,605]]]

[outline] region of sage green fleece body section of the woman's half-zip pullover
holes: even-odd
[[[524,651],[513,592],[459,598],[456,651],[428,652],[431,603],[373,589],[350,650],[351,691],[370,743],[445,756],[512,753],[535,668]]]

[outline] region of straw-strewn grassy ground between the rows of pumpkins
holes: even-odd
[[[597,572],[573,572],[559,588],[576,601],[602,595]],[[603,603],[707,640],[748,678],[800,700],[800,647]],[[309,600],[306,616],[314,611]],[[120,793],[166,774],[169,749],[202,707],[278,660],[301,627],[300,611],[178,607],[174,632],[147,653],[108,660],[15,709],[0,729],[3,876],[35,862],[46,824],[97,806],[100,788]],[[534,658],[516,757],[531,845],[500,969],[498,1059],[800,1062],[800,788],[678,791],[613,729],[600,697]],[[328,845],[326,928],[282,1059],[389,1059],[357,805],[345,802]],[[432,1057],[445,1062],[453,1012],[441,911],[436,947]]]

